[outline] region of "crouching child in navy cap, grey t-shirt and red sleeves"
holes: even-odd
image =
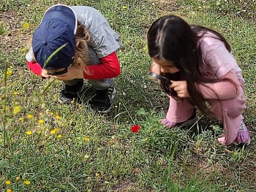
[[[45,61],[65,45],[45,66]],[[69,103],[78,99],[83,79],[96,89],[91,99],[92,109],[107,113],[112,107],[114,79],[120,74],[116,55],[120,37],[108,25],[104,16],[92,7],[50,7],[34,31],[27,65],[42,78],[64,81],[59,101]]]

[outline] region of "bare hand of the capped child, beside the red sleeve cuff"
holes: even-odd
[[[76,68],[75,66],[70,66],[67,69],[67,73],[60,75],[51,75],[56,80],[74,80],[74,79],[83,79],[83,69]]]

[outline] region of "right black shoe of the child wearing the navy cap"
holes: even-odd
[[[97,90],[96,95],[90,101],[91,108],[101,113],[110,112],[112,107],[110,98],[113,99],[114,93],[116,93],[116,89],[113,86],[108,89]]]

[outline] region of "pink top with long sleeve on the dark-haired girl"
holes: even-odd
[[[203,75],[206,79],[218,79],[219,82],[197,84],[204,99],[233,99],[244,89],[244,78],[236,59],[227,50],[224,42],[211,32],[200,39],[203,55]],[[227,78],[236,83],[222,81]],[[241,87],[241,89],[239,88]]]

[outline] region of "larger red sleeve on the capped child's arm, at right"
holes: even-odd
[[[86,66],[86,72],[83,72],[83,77],[87,80],[94,79],[108,79],[117,77],[120,72],[120,64],[116,55],[116,52],[99,59],[101,64]]]

